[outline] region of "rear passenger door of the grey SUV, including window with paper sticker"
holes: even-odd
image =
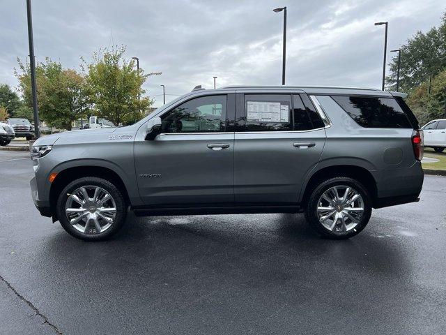
[[[236,204],[296,204],[321,157],[324,127],[306,94],[237,94]]]

